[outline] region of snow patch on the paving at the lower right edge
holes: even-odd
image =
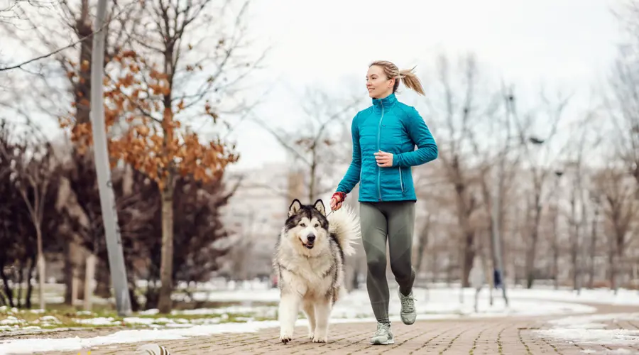
[[[552,320],[552,329],[535,331],[545,338],[560,339],[579,344],[639,344],[639,330],[619,329],[616,322],[638,322],[639,313],[581,315]]]

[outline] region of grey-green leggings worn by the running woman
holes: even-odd
[[[378,322],[388,320],[388,281],[386,280],[386,236],[391,254],[391,271],[403,295],[410,294],[415,281],[411,265],[415,202],[361,202],[361,236],[364,241],[368,275],[366,288]]]

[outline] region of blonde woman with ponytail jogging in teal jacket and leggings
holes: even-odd
[[[378,322],[371,344],[394,344],[388,320],[387,235],[402,322],[415,322],[415,270],[410,258],[417,197],[411,167],[437,158],[437,144],[420,114],[395,97],[400,80],[424,94],[413,70],[398,70],[387,61],[368,67],[366,88],[373,105],[353,119],[353,160],[331,199],[331,208],[339,209],[359,182],[361,234],[368,264],[366,288]]]

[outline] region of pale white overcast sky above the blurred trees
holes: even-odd
[[[621,0],[620,0],[621,1]],[[368,63],[417,65],[428,86],[437,55],[476,53],[483,74],[502,77],[530,94],[540,84],[578,89],[581,101],[609,70],[618,27],[606,0],[253,0],[249,29],[256,43],[273,48],[266,68],[247,92],[272,88],[256,114],[273,126],[294,127],[300,94],[324,87],[350,92],[370,104],[364,87]],[[5,52],[9,54],[8,52]],[[410,94],[400,100],[416,104]],[[427,122],[428,123],[428,122]],[[430,124],[430,123],[429,123]],[[55,126],[55,123],[53,123]],[[230,137],[239,167],[283,161],[284,151],[266,131],[244,121]],[[437,138],[437,137],[436,137]]]

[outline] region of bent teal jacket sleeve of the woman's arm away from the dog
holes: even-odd
[[[412,152],[400,153],[393,156],[393,167],[400,166],[406,168],[409,166],[417,166],[437,159],[437,143],[432,137],[426,122],[422,119],[419,112],[414,107],[410,108],[407,115],[406,128],[408,135],[417,146],[417,150]]]

